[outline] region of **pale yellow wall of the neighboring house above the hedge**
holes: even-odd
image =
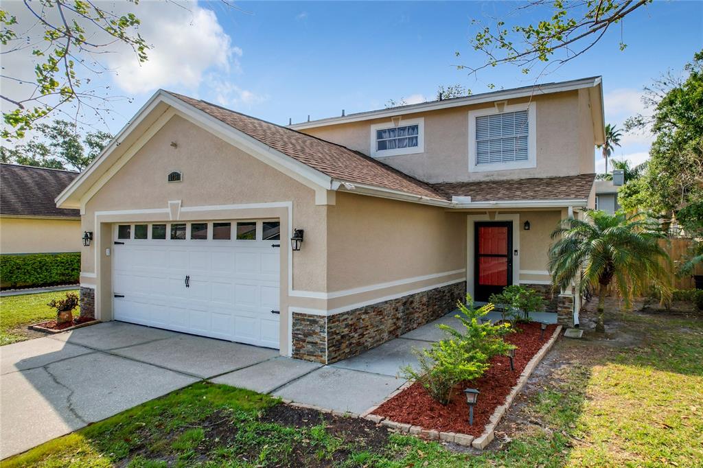
[[[81,222],[77,219],[0,218],[0,253],[79,252]]]

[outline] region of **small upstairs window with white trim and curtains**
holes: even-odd
[[[384,157],[423,152],[424,120],[399,119],[398,122],[371,125],[371,155]]]

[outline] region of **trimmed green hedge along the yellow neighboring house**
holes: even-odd
[[[0,285],[4,289],[75,285],[80,273],[80,252],[0,256]]]

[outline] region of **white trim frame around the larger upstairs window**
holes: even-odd
[[[476,164],[476,117],[496,115],[503,112],[527,110],[527,161],[494,162]],[[508,171],[510,169],[531,169],[537,167],[537,105],[533,101],[525,104],[506,105],[503,112],[494,107],[469,111],[469,172]]]

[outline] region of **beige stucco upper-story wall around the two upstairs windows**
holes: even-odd
[[[492,103],[404,115],[424,117],[425,152],[382,157],[380,160],[431,183],[546,176],[593,172],[593,122],[588,91],[566,91],[534,96],[536,106],[536,158],[532,169],[468,171],[468,112],[492,108]],[[508,105],[527,103],[527,98]],[[304,129],[307,134],[340,143],[370,155],[370,126],[388,118]]]

